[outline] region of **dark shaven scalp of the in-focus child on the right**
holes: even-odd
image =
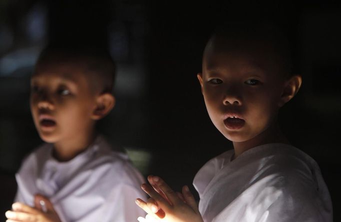
[[[267,68],[285,77],[292,76],[288,41],[277,27],[267,23],[243,22],[220,26],[206,44],[203,60],[219,54],[261,60]]]

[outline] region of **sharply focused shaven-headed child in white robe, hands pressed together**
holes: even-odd
[[[279,108],[297,93],[287,43],[272,26],[242,24],[217,31],[197,75],[214,126],[233,150],[195,175],[196,206],[188,187],[173,192],[159,177],[141,188],[142,221],[331,222],[332,206],[316,162],[289,144],[277,126]]]

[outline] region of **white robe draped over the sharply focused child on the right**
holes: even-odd
[[[285,144],[232,155],[211,159],[194,178],[204,222],[332,222],[327,187],[308,155]]]

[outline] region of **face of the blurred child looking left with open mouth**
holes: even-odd
[[[89,136],[96,96],[85,70],[74,64],[39,65],[31,78],[30,108],[42,140]]]

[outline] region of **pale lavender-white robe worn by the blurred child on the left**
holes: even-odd
[[[102,137],[68,162],[51,152],[52,145],[44,144],[24,160],[15,175],[16,201],[33,206],[34,195],[44,195],[63,222],[135,222],[145,215],[134,203],[145,199],[142,176]]]

